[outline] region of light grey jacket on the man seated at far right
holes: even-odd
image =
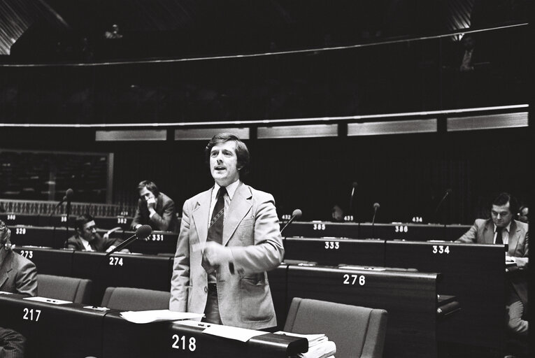
[[[459,243],[494,243],[494,223],[491,219],[476,219],[469,231],[456,240]],[[511,221],[507,255],[516,257],[519,267],[528,264],[529,231],[524,222]]]

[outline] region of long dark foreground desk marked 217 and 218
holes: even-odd
[[[304,338],[263,334],[248,342],[202,333],[173,322],[134,324],[117,310],[28,301],[0,294],[2,326],[27,338],[27,357],[259,357],[286,358],[306,352]]]

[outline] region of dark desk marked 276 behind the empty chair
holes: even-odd
[[[384,357],[437,356],[439,273],[289,266],[287,299],[302,297],[388,312]]]

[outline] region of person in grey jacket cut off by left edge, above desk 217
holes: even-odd
[[[11,250],[11,231],[0,220],[0,291],[37,295],[35,264]]]

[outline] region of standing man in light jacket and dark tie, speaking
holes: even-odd
[[[215,184],[184,203],[169,309],[204,313],[204,322],[275,327],[266,271],[283,260],[273,196],[242,182],[245,143],[216,134],[206,146]]]

